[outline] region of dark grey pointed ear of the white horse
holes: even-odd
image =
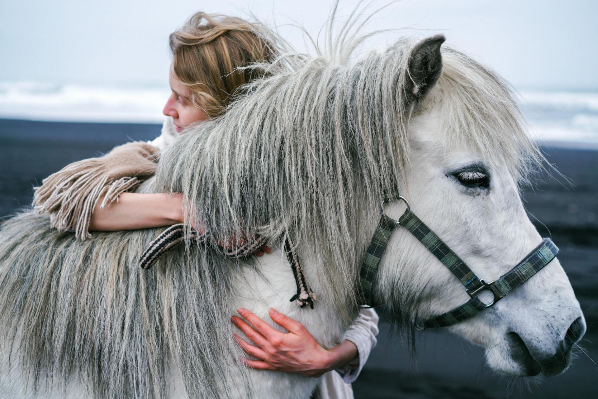
[[[440,46],[444,35],[434,35],[417,43],[409,54],[405,92],[410,100],[422,99],[434,86],[443,69]]]

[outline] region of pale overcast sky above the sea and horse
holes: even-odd
[[[167,86],[167,38],[195,11],[273,25],[295,19],[312,32],[329,0],[21,0],[0,2],[0,80]],[[355,1],[344,1],[346,15]],[[384,1],[374,4],[383,5]],[[598,89],[598,1],[404,0],[370,30],[411,26],[496,69],[518,89]],[[290,39],[300,33],[280,28]],[[411,33],[411,32],[410,32]],[[389,40],[393,35],[386,35]],[[385,38],[380,38],[382,44]]]

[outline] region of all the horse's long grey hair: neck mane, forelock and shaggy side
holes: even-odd
[[[370,238],[359,223],[376,217],[368,207],[410,164],[409,124],[423,112],[405,86],[415,43],[401,39],[353,64],[340,61],[346,54],[288,52],[261,65],[266,77],[225,115],[161,156],[147,189],[184,193],[188,217],[214,239],[257,232],[310,245],[327,300],[346,311],[347,301],[356,304],[357,266]],[[443,62],[437,92],[447,141],[524,178],[539,155],[508,86],[459,51],[444,48]],[[0,333],[34,383],[76,375],[98,397],[160,398],[176,364],[190,397],[222,397],[240,380],[250,395],[248,380],[233,381],[225,361],[237,349],[222,310],[241,264],[187,246],[145,272],[138,256],[155,235],[94,233],[78,242],[32,213],[2,226]],[[407,324],[416,301],[408,285],[400,294],[395,316]]]

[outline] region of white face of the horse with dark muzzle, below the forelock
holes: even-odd
[[[439,83],[422,100],[423,111],[411,121],[414,152],[407,184],[399,185],[399,192],[478,278],[490,282],[533,251],[541,236],[526,214],[517,182],[504,160],[490,163],[466,144],[446,142],[445,100]],[[395,201],[388,214],[397,218],[404,208]],[[470,299],[449,269],[405,229],[395,230],[388,248],[380,288],[409,281],[408,290],[422,295],[419,316],[438,316]],[[392,295],[386,299],[392,301]],[[492,294],[485,291],[480,299],[489,303]],[[493,370],[553,376],[568,368],[572,348],[585,333],[585,321],[555,258],[493,307],[450,329],[484,346]]]

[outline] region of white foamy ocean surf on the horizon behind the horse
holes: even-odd
[[[80,86],[0,81],[0,118],[97,123],[161,123],[164,86]],[[541,144],[598,148],[598,91],[518,92],[530,135]]]

